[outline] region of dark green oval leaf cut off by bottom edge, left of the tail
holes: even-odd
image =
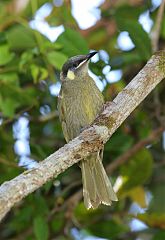
[[[38,216],[34,219],[34,234],[37,240],[47,240],[49,237],[48,224],[44,217]]]

